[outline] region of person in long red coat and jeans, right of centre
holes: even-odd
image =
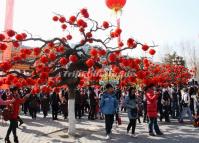
[[[155,132],[157,135],[163,135],[163,133],[160,131],[158,123],[157,123],[157,102],[158,102],[158,96],[159,93],[155,91],[154,85],[151,84],[146,87],[145,89],[145,96],[147,99],[147,116],[149,118],[149,135],[155,136],[153,132],[153,127],[155,129]]]

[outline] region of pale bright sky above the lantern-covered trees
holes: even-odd
[[[4,26],[5,1],[0,0],[0,31]],[[127,0],[121,16],[123,38],[155,42],[159,45],[157,59],[168,52],[165,45],[172,45],[178,53],[181,50],[176,45],[182,41],[199,46],[198,6],[199,0]],[[25,29],[45,38],[59,35],[57,25],[51,22],[53,12],[70,16],[82,7],[87,7],[97,20],[115,22],[115,15],[106,8],[104,0],[15,0],[13,26],[17,31]]]

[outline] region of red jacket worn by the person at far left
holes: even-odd
[[[25,102],[24,98],[16,98],[13,103],[13,113],[11,116],[11,120],[17,120],[17,117],[19,116],[19,109],[20,105]]]

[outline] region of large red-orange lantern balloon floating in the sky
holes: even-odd
[[[114,10],[115,12],[120,11],[125,4],[126,0],[106,0],[107,7]]]

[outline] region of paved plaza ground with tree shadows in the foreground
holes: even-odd
[[[122,125],[113,128],[112,139],[105,140],[104,121],[77,121],[77,136],[67,136],[67,120],[52,121],[50,118],[43,119],[39,115],[37,120],[23,116],[25,124],[18,129],[20,143],[196,143],[199,142],[199,129],[189,124],[178,124],[173,121],[170,124],[160,123],[161,130],[165,133],[161,137],[149,137],[147,124],[137,125],[137,138],[131,138],[126,133],[128,118],[122,115]],[[0,121],[1,122],[1,121]],[[6,123],[0,123],[0,138],[5,137]],[[12,139],[12,137],[11,137]],[[3,139],[0,139],[0,143]]]

